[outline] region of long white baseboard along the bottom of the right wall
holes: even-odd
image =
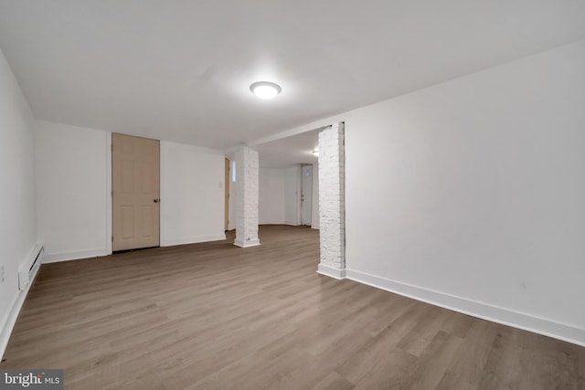
[[[319,267],[321,267],[321,264]],[[324,272],[320,273],[327,275]],[[519,311],[511,311],[476,300],[468,300],[440,291],[424,289],[396,280],[380,278],[353,269],[346,269],[346,279],[355,280],[368,286],[395,292],[405,297],[422,300],[423,302],[431,303],[441,308],[458,311],[487,321],[502,323],[528,332],[535,332],[565,342],[585,346],[585,329],[576,328],[564,323],[546,320]]]

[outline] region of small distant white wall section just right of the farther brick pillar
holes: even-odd
[[[284,224],[284,170],[260,168],[259,223]]]

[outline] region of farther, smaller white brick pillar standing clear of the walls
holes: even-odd
[[[236,240],[241,248],[260,245],[258,239],[258,152],[248,146],[236,151]]]

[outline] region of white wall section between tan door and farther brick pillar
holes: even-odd
[[[161,246],[225,239],[224,155],[161,142]]]

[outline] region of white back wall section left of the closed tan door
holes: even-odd
[[[37,121],[37,234],[45,260],[112,252],[110,133]]]

